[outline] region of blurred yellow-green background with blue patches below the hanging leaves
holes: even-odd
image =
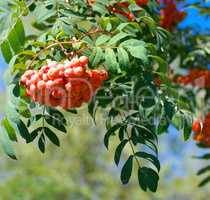
[[[4,90],[1,105],[6,102]],[[3,114],[3,106],[1,113]],[[43,155],[36,143],[15,145],[18,160],[8,158],[0,149],[0,200],[207,200],[210,186],[198,188],[196,170],[199,160],[192,159],[198,149],[194,142],[185,144],[181,134],[171,127],[171,133],[160,137],[162,169],[157,193],[142,192],[137,183],[137,171],[130,184],[120,182],[120,168],[113,162],[113,138],[110,151],[103,145],[103,114],[97,116],[97,127],[84,109],[78,115],[69,114],[68,135],[60,135],[61,147],[48,144]],[[124,151],[123,156],[129,153]]]

